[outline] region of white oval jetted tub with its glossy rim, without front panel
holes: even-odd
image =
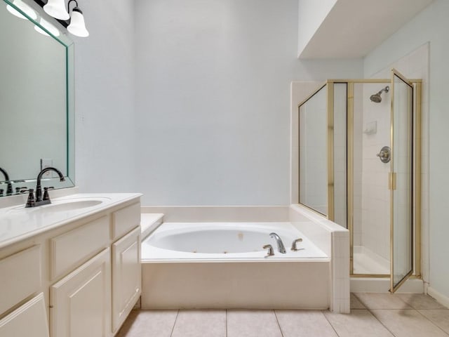
[[[279,253],[271,232],[281,237],[287,253]],[[299,251],[291,251],[293,240]],[[271,244],[274,256],[266,258],[265,244]],[[326,253],[316,247],[290,223],[164,223],[142,242],[142,261],[192,262],[217,260],[325,260]]]

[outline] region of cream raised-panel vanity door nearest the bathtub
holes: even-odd
[[[142,292],[140,227],[112,245],[112,331],[119,329]]]

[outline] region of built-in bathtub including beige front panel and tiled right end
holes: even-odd
[[[338,254],[336,243],[346,230],[304,215],[290,218],[269,223],[163,223],[142,241],[142,309],[349,312],[349,270],[347,275],[335,272],[339,259],[333,254]],[[271,232],[279,234],[287,253],[279,253]],[[301,250],[291,251],[298,238]],[[274,256],[265,257],[265,244],[272,244]]]

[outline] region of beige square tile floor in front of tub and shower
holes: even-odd
[[[135,310],[117,337],[439,337],[449,309],[422,294],[351,293],[351,314],[320,310]]]

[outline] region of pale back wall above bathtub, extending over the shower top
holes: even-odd
[[[137,0],[135,22],[143,204],[288,204],[290,82],[361,60],[297,60],[297,0]]]

